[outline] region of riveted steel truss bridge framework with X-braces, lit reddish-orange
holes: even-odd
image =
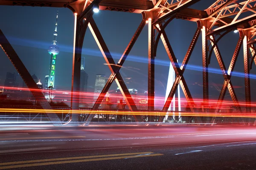
[[[172,63],[172,66],[176,73],[175,82],[172,85],[172,89],[169,93],[162,112],[168,111],[173,96],[177,90],[178,84],[180,84],[183,93],[188,102],[191,113],[195,113],[195,102],[190,94],[189,87],[186,84],[186,80],[183,77],[183,73],[186,69],[186,65],[189,62],[189,58],[197,43],[197,40],[201,34],[202,37],[202,59],[203,59],[203,99],[204,106],[209,103],[209,85],[208,85],[208,65],[211,60],[212,53],[215,54],[220,69],[224,77],[224,83],[219,94],[217,106],[214,113],[218,116],[219,108],[221,108],[224,96],[227,90],[233,99],[234,106],[237,113],[241,113],[244,109],[241,109],[240,103],[237,99],[232,82],[232,72],[238,58],[239,51],[243,46],[244,52],[244,85],[245,85],[245,99],[247,113],[252,113],[251,98],[250,98],[250,69],[253,62],[256,63],[256,48],[254,39],[256,35],[256,0],[216,0],[215,3],[209,4],[209,8],[204,11],[191,8],[192,5],[198,3],[200,0],[0,0],[0,5],[8,6],[41,6],[41,7],[63,7],[69,8],[74,13],[75,26],[74,26],[74,52],[73,52],[73,77],[72,77],[72,96],[71,96],[71,108],[74,111],[79,110],[79,99],[74,97],[75,93],[79,93],[80,87],[80,65],[81,65],[81,50],[84,42],[84,34],[87,28],[92,32],[94,39],[105,58],[106,63],[111,71],[111,75],[103,88],[101,94],[96,100],[91,111],[98,111],[99,105],[102,102],[105,94],[108,92],[113,81],[115,81],[122,92],[123,97],[128,105],[128,108],[132,112],[137,111],[137,107],[131,94],[125,85],[119,71],[128,57],[134,43],[139,37],[142,29],[148,27],[148,111],[154,112],[154,59],[157,53],[157,46],[160,41],[163,42],[164,48],[168,54],[168,57]],[[123,11],[130,13],[141,13],[142,21],[131,37],[131,41],[128,43],[127,48],[119,59],[119,62],[115,63],[102,35],[93,20],[93,7],[99,6],[100,10],[109,11]],[[177,59],[172,50],[172,46],[167,38],[165,28],[173,19],[189,20],[197,23],[195,28],[195,34],[191,40],[189,48],[184,56],[181,65],[177,63]],[[148,23],[148,24],[146,24]],[[218,42],[227,33],[233,30],[239,31],[239,40],[237,42],[235,51],[233,51],[233,57],[230,61],[230,65],[227,67],[224,65],[221,57],[220,50],[218,48]],[[23,65],[22,61],[18,57],[12,45],[6,39],[3,32],[0,30],[0,46],[6,53],[7,57],[11,60],[12,64],[17,69],[20,76],[30,89],[36,89],[37,85],[33,81],[31,75]],[[41,109],[51,110],[51,106],[44,99],[44,95],[40,91],[32,91],[36,100],[40,102]],[[207,113],[209,110],[207,107],[203,108],[203,113]],[[254,112],[254,111],[253,111]],[[253,114],[253,113],[252,113]],[[62,125],[63,121],[56,113],[47,113],[48,119],[54,122],[54,125]],[[88,125],[95,117],[95,113],[88,113],[83,122],[83,125]],[[158,116],[157,122],[163,122],[165,116]],[[70,114],[70,124],[75,125],[79,120],[79,114]],[[135,122],[143,122],[142,116],[134,114],[133,118]],[[215,117],[211,119],[204,119],[202,117],[196,117],[196,122],[214,122]]]

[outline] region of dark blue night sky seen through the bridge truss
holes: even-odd
[[[210,6],[214,0],[203,0],[192,6],[192,8],[204,10]],[[47,48],[52,44],[53,31],[55,28],[57,8],[48,7],[23,7],[23,6],[0,6],[0,29],[7,36],[9,42],[23,61],[30,74],[35,74],[41,78],[41,82],[49,71],[50,55]],[[93,18],[101,31],[112,57],[118,62],[123,51],[128,45],[131,37],[139,26],[142,15],[116,11],[100,11],[94,14]],[[121,68],[121,75],[128,88],[137,88],[143,93],[147,90],[148,71],[148,30],[146,25],[135,43],[131,53]],[[57,45],[60,47],[60,54],[56,60],[55,89],[70,90],[72,75],[72,52],[73,52],[73,27],[74,15],[68,8],[58,8],[58,37]],[[173,20],[166,27],[166,34],[172,45],[173,51],[179,63],[189,47],[197,24],[186,20]],[[226,68],[230,65],[233,51],[236,47],[239,34],[230,32],[219,43],[221,55]],[[189,65],[184,72],[184,77],[189,86],[193,98],[202,98],[202,47],[201,36],[189,60]],[[0,50],[0,85],[4,84],[6,72],[14,72],[15,68],[8,57]],[[102,57],[99,48],[87,29],[84,37],[82,57],[85,57],[85,71],[89,75],[88,91],[94,90],[96,74],[106,74],[109,77],[111,72]],[[165,96],[166,84],[169,72],[169,58],[160,41],[157,48],[155,66],[155,94]],[[231,82],[235,88],[239,101],[244,101],[244,68],[243,68],[243,48],[239,53],[236,67],[234,69]],[[251,94],[252,100],[255,89],[256,66],[253,64],[251,70]],[[20,85],[22,79],[19,77]],[[218,99],[224,78],[219,69],[215,55],[212,55],[209,65],[209,95],[210,99]],[[111,90],[116,89],[114,82]],[[181,97],[183,93],[181,93]],[[231,99],[229,93],[225,99]]]

